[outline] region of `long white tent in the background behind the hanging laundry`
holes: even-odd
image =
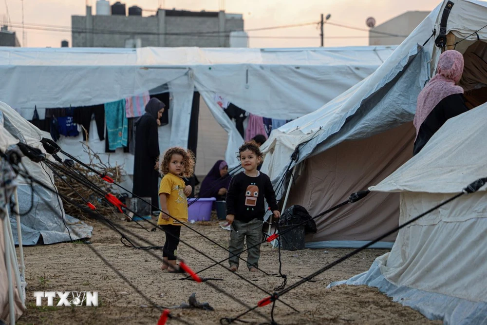
[[[269,118],[294,119],[321,105],[369,76],[395,47],[298,49],[29,49],[1,48],[0,98],[31,119],[41,108],[77,107],[123,99],[167,84],[171,94],[170,123],[160,128],[161,152],[169,146],[187,146],[193,91],[205,100],[209,112],[228,133],[218,143],[232,166],[242,144],[235,124],[214,101],[223,96],[245,111]],[[214,126],[214,125],[213,125]],[[212,128],[213,128],[212,126]],[[209,128],[208,124],[206,127]],[[200,128],[205,129],[205,125]],[[208,132],[207,130],[205,130]],[[104,143],[91,133],[90,146],[104,153]],[[83,157],[79,138],[60,145]],[[108,160],[108,156],[102,156]],[[213,157],[216,159],[216,157]],[[223,157],[222,157],[223,158]],[[106,162],[106,161],[105,161]],[[112,164],[132,173],[133,157],[117,151]],[[199,171],[206,173],[205,171]]]

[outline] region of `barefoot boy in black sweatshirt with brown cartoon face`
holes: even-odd
[[[239,257],[244,249],[246,237],[247,267],[251,272],[255,272],[261,257],[264,197],[276,218],[279,218],[281,213],[269,176],[257,170],[257,166],[262,162],[262,153],[255,141],[245,142],[239,148],[238,158],[244,172],[233,176],[226,193],[226,221],[232,225],[228,262],[232,271],[238,270]]]

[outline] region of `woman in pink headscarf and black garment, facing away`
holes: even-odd
[[[436,75],[419,93],[414,115],[416,140],[413,155],[423,149],[448,119],[468,111],[463,88],[456,85],[462,78],[463,64],[460,52],[443,52],[438,60]]]

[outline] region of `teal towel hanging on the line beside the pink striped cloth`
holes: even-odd
[[[110,150],[127,147],[129,120],[125,112],[125,99],[105,104],[105,120]]]

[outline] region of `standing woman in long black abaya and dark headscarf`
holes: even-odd
[[[151,98],[146,105],[146,113],[135,122],[135,154],[133,164],[133,193],[140,197],[150,197],[152,205],[159,206],[157,184],[159,172],[159,136],[157,127],[164,112],[164,103]],[[152,212],[157,211],[154,207]]]

